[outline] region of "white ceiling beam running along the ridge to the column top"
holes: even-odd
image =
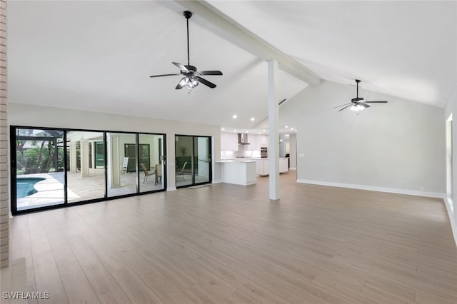
[[[198,22],[201,26],[205,26],[206,29],[213,31],[241,49],[265,61],[272,59],[277,61],[279,69],[305,81],[311,86],[321,84],[321,78],[314,74],[313,71],[307,69],[298,63],[298,61],[286,56],[286,54],[283,54],[283,52],[253,34],[226,14],[211,6],[208,2],[176,0],[175,3],[191,11],[194,14],[192,16],[193,21]]]

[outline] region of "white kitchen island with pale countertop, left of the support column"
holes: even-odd
[[[256,160],[246,158],[223,159],[221,163],[222,181],[235,185],[248,186],[256,183]]]

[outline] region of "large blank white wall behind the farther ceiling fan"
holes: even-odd
[[[355,95],[353,86],[325,81],[281,107],[281,121],[298,129],[298,181],[442,196],[443,108],[364,90],[367,100],[388,103],[359,115],[333,108]]]

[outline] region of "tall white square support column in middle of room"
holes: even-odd
[[[270,199],[279,199],[279,105],[276,90],[278,62],[268,60],[268,158]]]

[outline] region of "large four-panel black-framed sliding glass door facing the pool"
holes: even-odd
[[[164,134],[10,130],[14,215],[166,188]]]

